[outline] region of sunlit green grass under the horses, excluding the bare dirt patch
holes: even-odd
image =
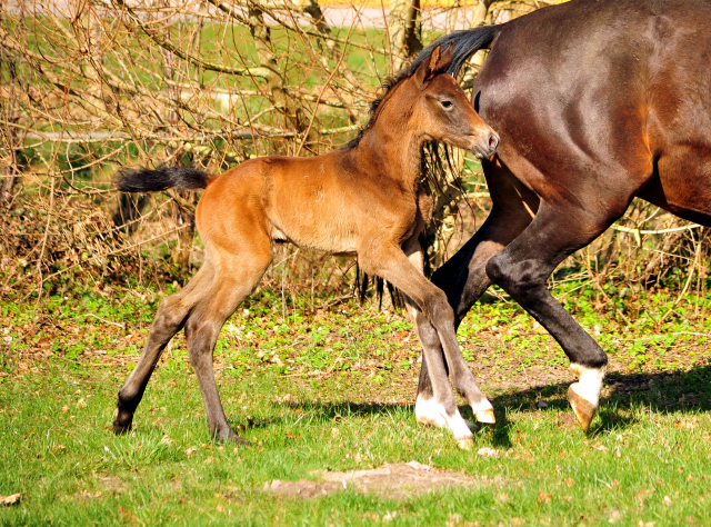
[[[21,499],[0,507],[0,525],[709,525],[705,327],[673,316],[655,330],[639,317],[625,330],[585,291],[568,307],[591,330],[602,326],[612,370],[591,432],[573,422],[562,352],[518,307],[489,297],[459,334],[497,409],[470,451],[414,422],[419,345],[399,316],[320,308],[328,298],[312,312],[306,297],[282,310],[280,294],[253,296],[216,356],[228,417],[253,444],[236,448],[208,440],[182,338],[161,359],[133,432],[108,429],[157,294],[68,295],[37,310],[3,301],[0,495]],[[639,301],[649,319],[668,306]],[[400,500],[262,490],[411,460],[473,485]]]

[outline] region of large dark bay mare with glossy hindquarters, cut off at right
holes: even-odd
[[[448,44],[454,76],[491,49],[473,101],[501,143],[483,162],[491,213],[433,282],[457,325],[492,282],[531,314],[579,377],[568,398],[587,431],[608,358],[545,281],[634,197],[711,226],[711,1],[572,0],[443,37],[412,68]],[[418,332],[427,357],[439,349],[427,321]],[[418,420],[438,397],[429,368]]]

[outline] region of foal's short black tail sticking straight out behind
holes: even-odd
[[[180,190],[203,189],[209,180],[209,173],[194,168],[161,167],[120,170],[113,185],[123,192],[159,192],[173,187]]]

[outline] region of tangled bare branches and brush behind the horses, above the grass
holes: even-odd
[[[383,80],[422,43],[549,3],[3,2],[2,295],[62,295],[87,281],[99,289],[181,282],[202,257],[198,196],[119,195],[110,183],[119,167],[220,172],[254,156],[324,152],[367,122]],[[463,72],[464,86],[482,60],[474,57]],[[433,189],[432,268],[490,207],[479,165],[457,151],[450,161]],[[554,280],[591,284],[603,301],[649,288],[703,295],[705,237],[698,226],[634,202]],[[354,261],[280,250],[267,278],[272,287],[303,295],[353,289]]]

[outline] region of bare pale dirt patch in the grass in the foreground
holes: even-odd
[[[432,490],[490,484],[487,480],[479,481],[453,470],[438,469],[417,461],[385,464],[370,470],[314,473],[314,475],[322,481],[274,479],[264,484],[263,490],[280,496],[313,498],[356,488],[360,493],[377,495],[381,498],[407,499]],[[503,485],[503,481],[495,483]]]

